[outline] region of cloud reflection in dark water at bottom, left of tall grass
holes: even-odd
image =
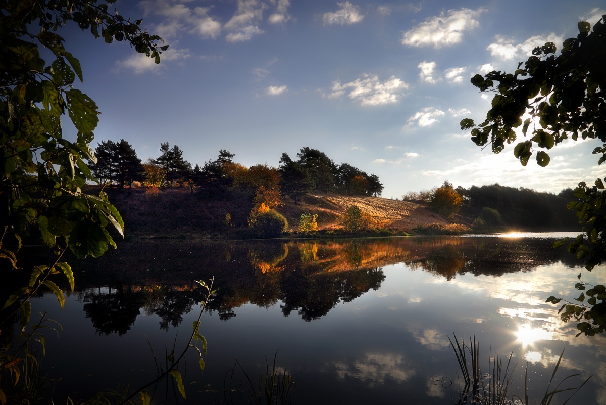
[[[364,359],[358,359],[353,364],[337,361],[333,363],[338,380],[353,377],[376,387],[385,384],[388,378],[403,383],[415,375],[411,363],[404,356],[396,353],[366,353]]]

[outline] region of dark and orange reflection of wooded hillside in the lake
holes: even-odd
[[[384,279],[382,267],[402,263],[444,276],[500,275],[563,261],[578,265],[553,240],[474,237],[374,238],[344,241],[148,241],[123,244],[95,261],[73,261],[85,311],[101,333],[125,333],[141,308],[161,317],[161,328],[181,323],[199,303],[194,279],[215,276],[208,310],[221,319],[247,304],[280,303],[284,315],[304,320],[355,300]],[[98,286],[141,286],[98,289]],[[172,286],[172,287],[167,287]],[[181,287],[176,287],[181,286]],[[87,287],[89,289],[87,289]],[[93,287],[93,289],[90,289]]]

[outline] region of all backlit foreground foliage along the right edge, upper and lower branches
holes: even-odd
[[[579,35],[564,41],[561,53],[556,45],[547,42],[533,50],[526,62],[520,62],[513,73],[493,71],[476,75],[471,84],[482,92],[496,93],[486,119],[476,125],[473,119],[461,121],[461,129],[471,129],[471,140],[479,146],[490,143],[494,153],[505,148],[505,143],[516,141],[521,133],[527,140],[518,142],[513,153],[522,166],[535,155],[539,166],[550,162],[548,150],[566,139],[598,139],[606,142],[606,16],[594,25],[579,22]],[[498,82],[498,84],[495,84]],[[528,116],[528,118],[522,119]],[[530,130],[530,133],[529,133]],[[593,151],[598,164],[606,161],[606,143]],[[602,179],[593,186],[580,182],[574,190],[580,201],[570,202],[582,225],[583,233],[574,239],[565,239],[555,246],[567,246],[570,253],[585,259],[585,269],[591,271],[606,259],[606,212],[603,204],[606,187]],[[579,277],[580,278],[580,277]],[[578,329],[587,336],[606,330],[606,295],[604,286],[595,286],[596,294],[586,301],[581,294],[581,306],[563,306],[562,320],[575,318]],[[583,290],[585,283],[577,283]],[[599,290],[598,290],[599,289]],[[558,303],[550,297],[548,302]],[[581,334],[579,333],[579,334]]]

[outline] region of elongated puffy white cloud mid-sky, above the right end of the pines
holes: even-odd
[[[328,97],[339,98],[349,92],[347,96],[362,105],[384,105],[398,102],[398,97],[406,89],[408,84],[395,76],[380,82],[378,76],[364,74],[362,78],[345,84],[334,81],[332,93]]]

